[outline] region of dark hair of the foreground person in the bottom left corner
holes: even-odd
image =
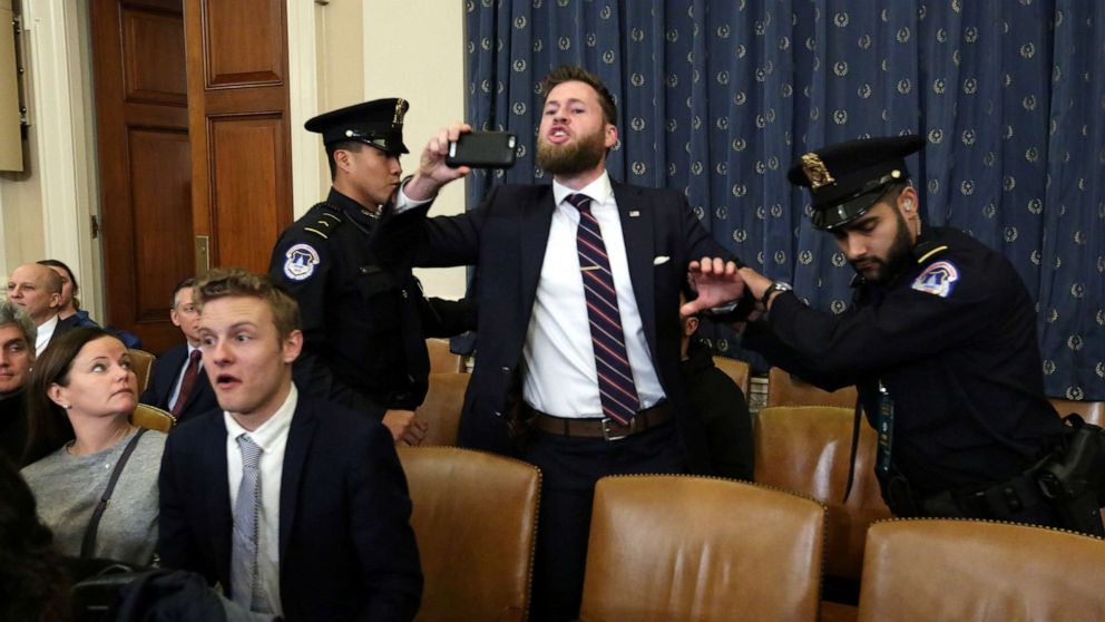
[[[0,620],[68,620],[69,581],[35,495],[0,456]]]

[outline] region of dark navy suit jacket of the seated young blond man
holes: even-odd
[[[162,566],[229,593],[232,514],[226,425],[213,410],[178,426],[160,473]],[[284,618],[411,620],[422,573],[407,479],[379,421],[304,397],[292,419],[280,499]]]

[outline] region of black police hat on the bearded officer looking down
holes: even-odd
[[[786,177],[813,197],[813,226],[831,231],[862,216],[887,186],[909,178],[904,157],[925,146],[920,136],[862,138],[800,157]]]

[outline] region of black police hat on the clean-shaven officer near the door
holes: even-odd
[[[309,132],[322,134],[325,145],[356,140],[391,155],[410,153],[403,144],[405,99],[373,99],[331,110],[303,124]]]

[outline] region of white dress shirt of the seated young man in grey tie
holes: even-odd
[[[248,434],[264,453],[261,455],[261,515],[257,516],[257,584],[265,590],[272,612],[283,615],[280,601],[280,480],[284,473],[284,447],[287,431],[292,426],[292,415],[299,401],[295,385],[287,399],[276,409],[272,418],[257,429],[250,431],[238,425],[229,412],[223,411],[226,422],[226,477],[231,484],[231,514],[238,498],[242,485],[242,450],[238,436]]]

